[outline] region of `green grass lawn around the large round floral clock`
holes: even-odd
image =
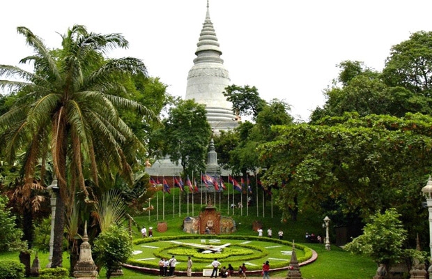
[[[153,227],[153,236],[183,236],[185,232],[183,232],[182,225],[183,219],[187,217],[187,204],[182,202],[180,216],[178,209],[178,192],[175,189],[173,192],[176,193],[174,199],[174,212],[172,211],[173,201],[172,196],[167,195],[165,199],[165,213],[162,216],[162,198],[159,200],[159,214],[156,214],[155,210],[151,211],[150,215],[148,213],[143,213],[140,216],[134,216],[134,220],[137,221],[137,225],[141,227],[142,225],[146,225],[146,227]],[[236,193],[237,194],[237,193]],[[172,194],[171,194],[172,195]],[[236,197],[237,199],[237,197]],[[245,199],[244,199],[245,200]],[[152,202],[156,202],[155,199],[152,199]],[[157,208],[156,204],[152,204]],[[219,209],[219,203],[217,199],[216,203],[217,209]],[[222,216],[227,216],[227,204],[225,202],[221,203],[221,212]],[[199,215],[199,211],[201,210],[200,204],[195,204],[194,206],[194,216]],[[192,216],[192,208],[190,204],[189,208],[189,216]],[[232,216],[232,211],[229,213]],[[264,216],[263,216],[264,215]],[[163,218],[164,217],[164,218]],[[236,209],[234,216],[234,220],[236,220],[236,225],[238,231],[235,232],[234,236],[257,236],[257,233],[252,230],[252,223],[254,221],[259,221],[263,224],[264,235],[268,227],[272,227],[273,235],[277,235],[277,231],[282,229],[284,231],[284,240],[292,241],[295,240],[295,243],[299,243],[309,248],[316,250],[318,252],[318,259],[316,262],[309,264],[307,266],[301,266],[300,271],[302,273],[302,277],[304,279],[364,279],[364,278],[372,278],[376,273],[376,264],[371,261],[371,259],[367,257],[362,257],[359,255],[353,255],[348,252],[345,252],[341,248],[332,245],[332,249],[330,251],[325,250],[323,244],[311,244],[304,243],[304,234],[305,232],[315,234],[324,235],[324,230],[321,224],[323,223],[322,216],[318,216],[313,211],[303,211],[299,213],[298,220],[286,220],[285,223],[281,223],[281,216],[279,211],[277,210],[277,206],[275,204],[271,204],[270,201],[266,201],[265,210],[263,212],[262,204],[259,204],[259,209],[255,206],[249,207],[249,212],[247,214],[247,210],[243,208],[242,214],[239,209]],[[167,222],[168,230],[167,232],[157,232],[157,223],[162,221]],[[332,230],[330,230],[332,232]],[[141,234],[139,233],[138,227],[133,228],[133,236],[134,239],[141,239]],[[332,242],[334,242],[333,234],[330,238]],[[198,238],[201,239],[201,238]],[[189,241],[189,240],[188,240]],[[192,241],[192,240],[191,240]],[[196,240],[198,241],[198,240]],[[225,241],[224,241],[225,242]],[[235,241],[233,241],[234,243]],[[237,242],[237,241],[236,241]],[[169,243],[167,243],[168,245]],[[265,246],[266,244],[263,243]],[[288,249],[288,246],[287,246]],[[143,254],[135,255],[135,258],[150,258],[155,257],[152,255],[153,250],[139,248],[139,246],[135,246],[134,250],[143,250]],[[144,252],[145,251],[145,252]],[[302,252],[299,251],[298,257],[302,256]],[[18,259],[18,253],[3,253],[0,254],[0,261],[2,259]],[[40,266],[46,266],[48,260],[48,255],[39,253]],[[157,258],[157,257],[155,257]],[[32,255],[33,260],[33,255]],[[233,266],[239,263],[241,259],[226,258],[221,262],[223,264],[232,263]],[[261,259],[259,259],[261,261]],[[272,261],[270,261],[271,263]],[[261,262],[256,262],[256,264],[262,264]],[[199,263],[196,263],[196,267],[198,267]],[[69,268],[68,255],[65,253],[63,257],[63,266],[65,268]],[[124,279],[135,279],[135,278],[157,278],[158,276],[147,275],[138,273],[136,271],[131,271],[128,269],[123,269],[125,276]],[[282,277],[285,278],[287,271],[280,271],[278,273],[272,272],[270,273],[271,277]],[[106,278],[105,270],[102,269],[100,272],[100,278]]]

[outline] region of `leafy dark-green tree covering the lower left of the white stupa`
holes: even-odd
[[[179,100],[162,121],[164,128],[153,136],[159,142],[163,156],[180,164],[185,174],[199,173],[206,169],[206,156],[212,130],[206,117],[206,108],[194,100]]]

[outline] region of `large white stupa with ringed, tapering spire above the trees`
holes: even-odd
[[[220,58],[222,51],[210,20],[208,0],[206,20],[196,45],[194,66],[187,75],[186,100],[194,99],[206,105],[207,120],[215,133],[235,128],[238,122],[233,105],[222,93],[230,85],[230,79],[224,60]]]

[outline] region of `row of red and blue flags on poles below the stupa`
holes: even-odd
[[[226,186],[224,184],[224,180],[222,179],[222,177],[219,177],[219,181],[218,181],[218,179],[216,179],[213,176],[210,176],[208,174],[203,174],[203,175],[201,175],[201,181],[203,181],[203,183],[206,185],[207,188],[208,188],[208,186],[213,185],[215,187],[215,190],[217,190],[217,191],[219,191],[220,188],[226,190]],[[234,179],[233,176],[229,175],[228,181],[233,184],[234,190],[237,190],[238,192],[242,192],[242,190],[245,188],[245,181],[243,180],[243,178],[241,178],[240,183],[238,183],[238,181],[236,181],[236,179]],[[150,183],[153,185],[153,187],[156,187],[157,185],[161,184],[159,182],[159,179],[156,179],[156,181],[155,181],[155,179],[153,179],[153,178],[150,178]],[[252,194],[252,187],[250,186],[249,177],[247,177],[246,183],[247,183],[246,185],[247,185],[248,193]],[[196,180],[195,179],[194,179],[194,184],[192,185],[192,182],[190,181],[189,176],[187,176],[186,185],[188,186],[189,191],[191,193],[198,192],[198,187],[196,186]],[[265,191],[265,193],[267,193],[268,195],[272,195],[272,191],[269,190],[268,188],[264,188],[261,184],[261,181],[258,181],[258,185],[260,186],[260,188],[262,188]],[[282,185],[284,186],[284,182],[282,182]],[[162,186],[163,186],[162,187],[163,193],[171,194],[171,190],[169,189],[169,185],[165,179],[162,179]],[[182,192],[185,191],[185,185],[184,185],[181,177],[178,177],[178,179],[176,177],[174,177],[174,187],[180,188],[180,190]]]

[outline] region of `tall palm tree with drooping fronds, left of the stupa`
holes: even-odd
[[[52,267],[61,266],[65,208],[77,188],[88,201],[84,171],[98,186],[98,172],[119,172],[132,183],[131,163],[144,146],[118,116],[118,109],[137,110],[147,119],[154,114],[125,98],[122,82],[131,75],[147,76],[139,59],[107,59],[108,50],[128,47],[118,33],[89,33],[75,25],[61,35],[62,47],[49,50],[26,27],[17,27],[34,54],[33,73],[0,65],[0,89],[17,92],[17,102],[0,116],[1,153],[13,161],[24,152],[24,182],[31,183],[38,159],[51,156],[58,179]],[[123,97],[122,97],[123,96]],[[86,178],[88,179],[88,178]]]

